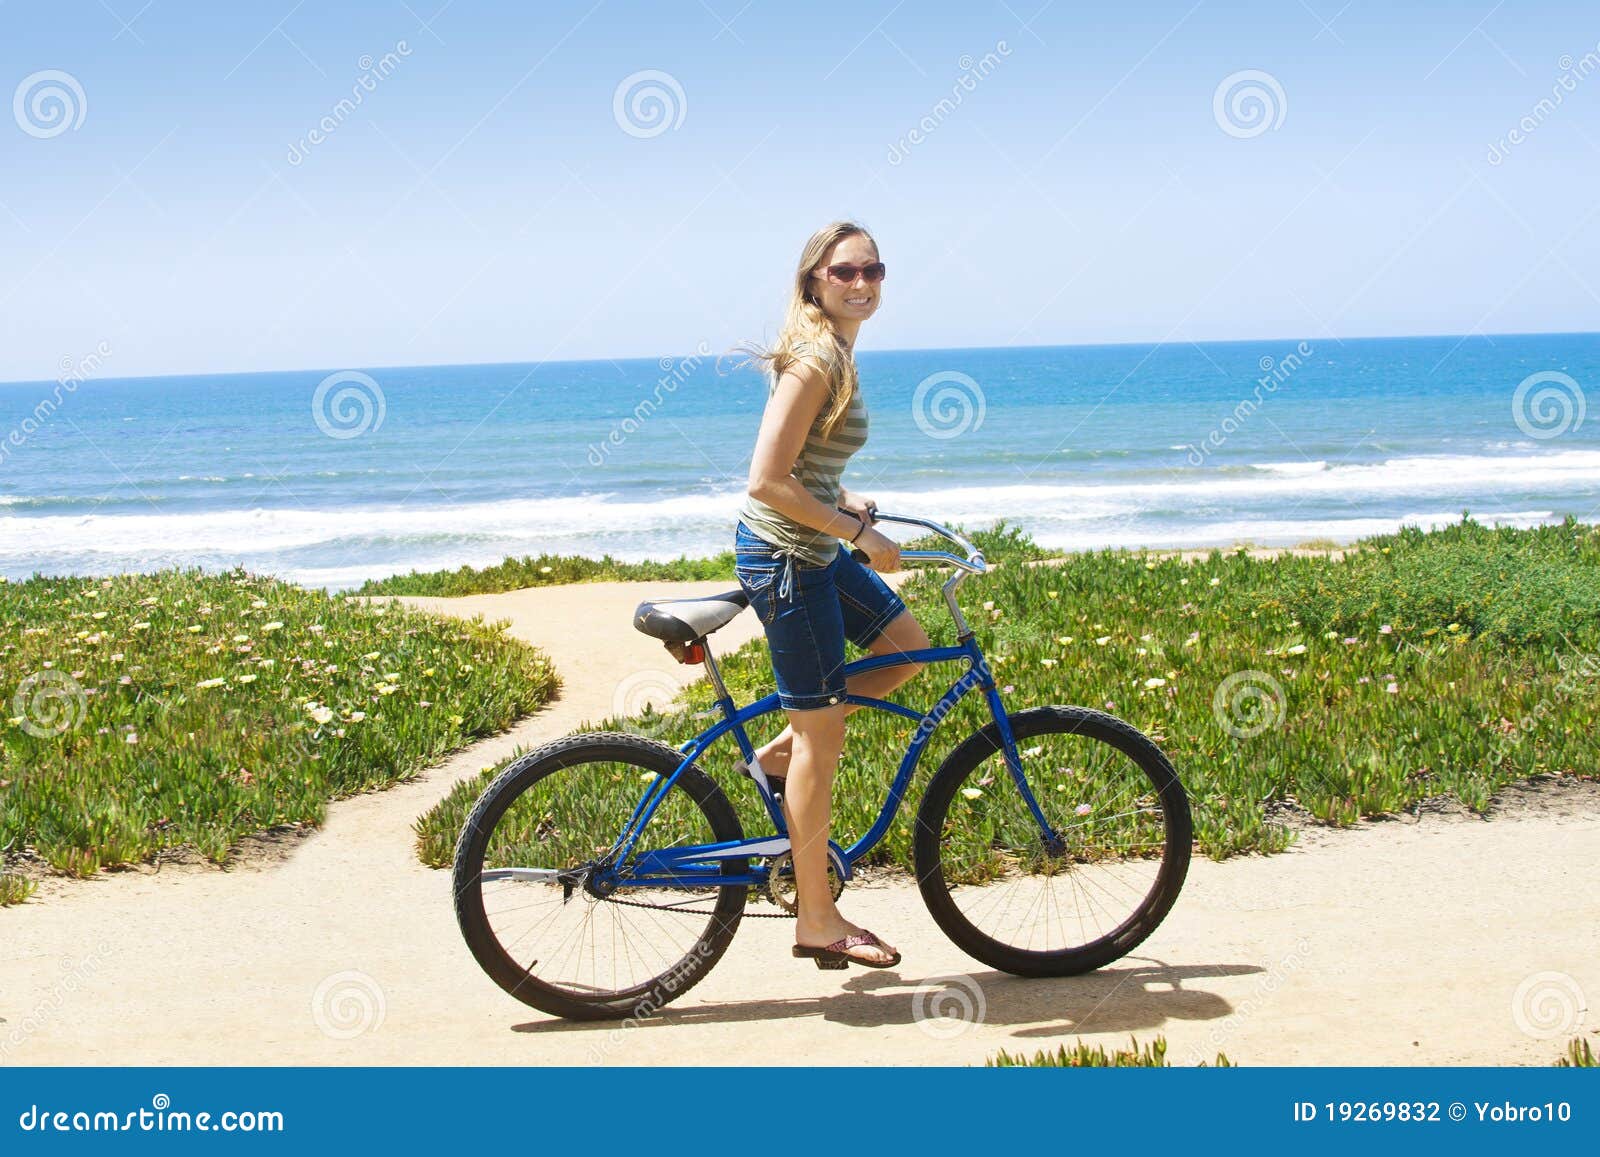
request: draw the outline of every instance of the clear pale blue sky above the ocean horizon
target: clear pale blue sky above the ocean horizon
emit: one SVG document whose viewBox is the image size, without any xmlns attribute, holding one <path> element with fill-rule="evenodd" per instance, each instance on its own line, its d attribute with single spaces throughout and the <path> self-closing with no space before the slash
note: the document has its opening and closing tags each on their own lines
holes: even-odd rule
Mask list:
<svg viewBox="0 0 1600 1157">
<path fill-rule="evenodd" d="M 834 216 L 864 346 L 1597 328 L 1592 5 L 739 3 L 0 3 L 0 379 L 723 349 Z"/>
</svg>

